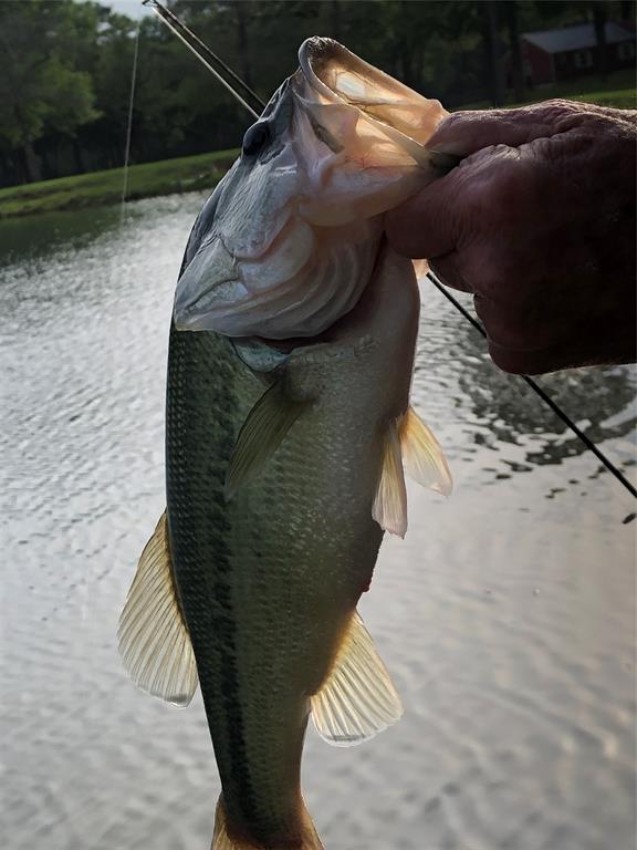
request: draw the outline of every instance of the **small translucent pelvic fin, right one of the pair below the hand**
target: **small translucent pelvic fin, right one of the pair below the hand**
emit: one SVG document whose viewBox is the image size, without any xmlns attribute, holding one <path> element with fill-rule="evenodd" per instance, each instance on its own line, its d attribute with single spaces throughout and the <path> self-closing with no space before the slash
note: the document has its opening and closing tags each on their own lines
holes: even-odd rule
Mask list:
<svg viewBox="0 0 637 850">
<path fill-rule="evenodd" d="M 399 421 L 398 432 L 403 463 L 409 477 L 424 487 L 449 496 L 451 473 L 440 444 L 413 407 L 408 407 Z"/>
</svg>

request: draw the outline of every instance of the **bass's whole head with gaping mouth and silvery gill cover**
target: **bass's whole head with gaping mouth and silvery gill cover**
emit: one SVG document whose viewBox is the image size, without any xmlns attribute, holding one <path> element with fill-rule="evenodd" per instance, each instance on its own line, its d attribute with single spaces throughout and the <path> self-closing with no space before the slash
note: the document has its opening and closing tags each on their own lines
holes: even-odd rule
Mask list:
<svg viewBox="0 0 637 850">
<path fill-rule="evenodd" d="M 196 227 L 179 330 L 321 334 L 363 293 L 382 214 L 438 176 L 424 146 L 447 114 L 438 101 L 331 39 L 306 40 L 299 60 Z"/>
</svg>

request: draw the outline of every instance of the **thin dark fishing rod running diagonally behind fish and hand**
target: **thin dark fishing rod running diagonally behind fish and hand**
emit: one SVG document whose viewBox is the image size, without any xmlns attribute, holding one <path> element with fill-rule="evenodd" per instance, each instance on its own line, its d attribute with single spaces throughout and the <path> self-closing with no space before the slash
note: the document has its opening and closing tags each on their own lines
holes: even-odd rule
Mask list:
<svg viewBox="0 0 637 850">
<path fill-rule="evenodd" d="M 239 101 L 239 103 L 250 112 L 254 118 L 259 118 L 261 112 L 265 107 L 264 101 L 262 101 L 258 94 L 255 94 L 239 76 L 237 76 L 231 68 L 229 68 L 221 59 L 219 59 L 219 56 L 213 53 L 207 44 L 198 39 L 197 35 L 195 35 L 195 33 L 191 32 L 191 30 L 189 30 L 185 23 L 182 23 L 175 14 L 173 14 L 169 9 L 166 9 L 166 7 L 161 6 L 158 0 L 143 0 L 143 6 L 150 7 L 155 14 L 157 14 L 158 18 L 160 18 L 161 21 L 186 44 L 188 50 L 194 53 L 197 59 L 203 65 L 206 65 L 209 71 L 212 72 L 212 74 L 215 74 L 215 76 L 224 86 L 224 89 L 227 89 L 237 99 L 237 101 Z M 453 165 L 456 164 L 457 163 L 455 162 Z M 480 333 L 484 339 L 488 339 L 487 331 L 480 324 L 480 322 L 474 319 L 464 307 L 462 307 L 462 304 L 447 290 L 446 287 L 442 286 L 439 280 L 437 280 L 437 278 L 431 272 L 427 273 L 427 278 L 431 281 L 431 283 L 434 283 L 436 289 L 441 292 L 460 313 L 462 313 L 462 315 L 473 325 L 478 333 Z M 619 484 L 622 484 L 634 498 L 637 498 L 637 488 L 630 484 L 622 470 L 618 469 L 615 464 L 606 457 L 606 455 L 593 443 L 593 440 L 587 437 L 586 434 L 584 434 L 582 428 L 579 428 L 566 413 L 564 413 L 557 403 L 551 398 L 551 396 L 544 390 L 542 390 L 537 382 L 529 375 L 519 375 L 519 377 L 521 377 L 528 384 L 528 386 L 530 386 L 531 390 L 533 390 L 533 392 L 536 393 L 540 398 L 542 398 L 542 401 L 553 411 L 553 413 L 562 419 L 562 422 L 575 434 L 576 437 L 582 440 L 586 448 L 588 448 L 606 467 L 606 469 L 608 469 L 608 471 L 615 476 Z M 629 521 L 635 515 L 628 515 L 624 521 Z"/>
</svg>

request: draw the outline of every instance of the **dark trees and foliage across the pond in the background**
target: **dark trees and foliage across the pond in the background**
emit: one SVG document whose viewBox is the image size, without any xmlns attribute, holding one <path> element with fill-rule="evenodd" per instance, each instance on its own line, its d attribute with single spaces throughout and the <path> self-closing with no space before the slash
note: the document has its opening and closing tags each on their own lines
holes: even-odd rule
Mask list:
<svg viewBox="0 0 637 850">
<path fill-rule="evenodd" d="M 634 14 L 634 0 L 165 0 L 267 100 L 301 41 L 332 35 L 450 107 L 504 102 L 516 32 Z M 231 96 L 154 15 L 103 3 L 0 2 L 0 185 L 121 165 L 138 34 L 133 162 L 237 145 Z M 595 14 L 597 15 L 595 18 Z M 524 99 L 520 73 L 515 96 Z"/>
</svg>

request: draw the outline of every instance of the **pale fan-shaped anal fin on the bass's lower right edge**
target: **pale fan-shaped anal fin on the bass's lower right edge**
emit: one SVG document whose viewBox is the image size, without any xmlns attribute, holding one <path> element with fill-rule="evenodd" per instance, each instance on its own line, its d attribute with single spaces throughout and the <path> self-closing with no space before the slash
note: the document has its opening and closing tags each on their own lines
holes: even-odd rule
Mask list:
<svg viewBox="0 0 637 850">
<path fill-rule="evenodd" d="M 361 744 L 401 716 L 400 697 L 358 612 L 311 706 L 318 735 L 340 747 Z"/>
</svg>

